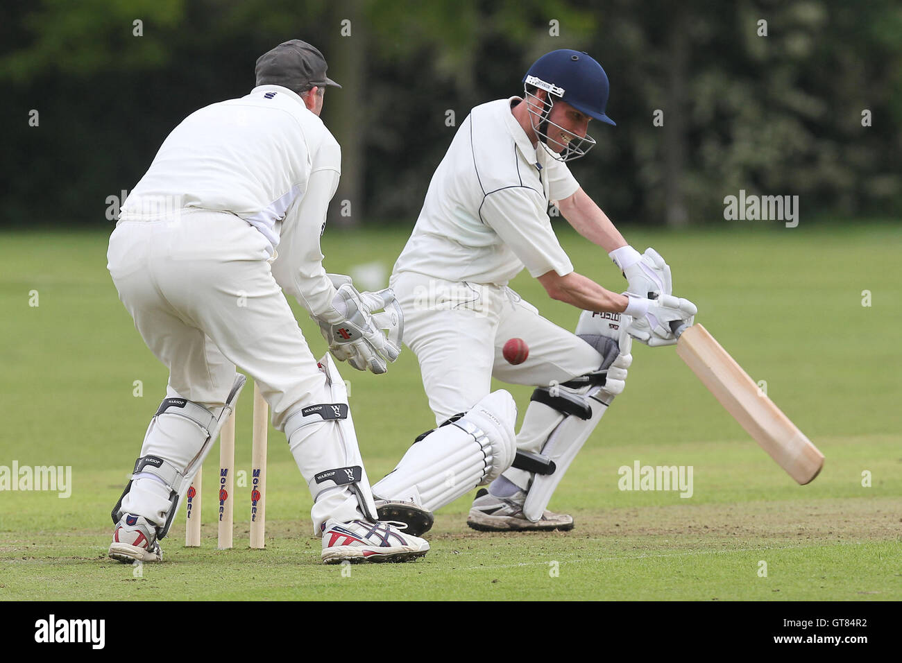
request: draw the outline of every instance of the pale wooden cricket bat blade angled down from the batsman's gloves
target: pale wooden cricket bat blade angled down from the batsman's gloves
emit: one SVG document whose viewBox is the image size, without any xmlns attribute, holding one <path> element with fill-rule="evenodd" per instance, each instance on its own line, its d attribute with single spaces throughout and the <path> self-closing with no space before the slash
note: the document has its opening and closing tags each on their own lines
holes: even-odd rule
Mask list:
<svg viewBox="0 0 902 663">
<path fill-rule="evenodd" d="M 671 325 L 676 327 L 674 334 L 678 338 L 676 354 L 733 419 L 796 482 L 805 485 L 814 481 L 824 466 L 824 454 L 759 389 L 707 329 L 701 325 Z"/>
</svg>

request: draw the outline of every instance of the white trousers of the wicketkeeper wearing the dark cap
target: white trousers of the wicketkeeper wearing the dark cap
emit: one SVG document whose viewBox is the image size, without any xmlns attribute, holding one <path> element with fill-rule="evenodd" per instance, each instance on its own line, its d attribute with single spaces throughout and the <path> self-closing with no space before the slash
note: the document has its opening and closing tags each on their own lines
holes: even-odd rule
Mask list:
<svg viewBox="0 0 902 663">
<path fill-rule="evenodd" d="M 110 236 L 107 268 L 134 327 L 170 370 L 167 397 L 221 408 L 238 365 L 260 386 L 272 425 L 283 430 L 295 412 L 330 399 L 325 375 L 272 277 L 267 245 L 238 216 L 182 209 L 164 219 L 121 220 Z M 318 472 L 347 465 L 335 426 L 309 424 L 290 440 L 308 485 Z M 153 431 L 141 455 L 162 456 L 184 471 L 198 453 L 197 440 L 172 428 Z M 137 483 L 124 509 L 159 521 L 166 493 L 145 481 L 154 490 L 139 495 Z M 346 522 L 362 513 L 348 487 L 338 486 L 321 495 L 311 516 L 316 529 L 327 518 Z"/>
</svg>

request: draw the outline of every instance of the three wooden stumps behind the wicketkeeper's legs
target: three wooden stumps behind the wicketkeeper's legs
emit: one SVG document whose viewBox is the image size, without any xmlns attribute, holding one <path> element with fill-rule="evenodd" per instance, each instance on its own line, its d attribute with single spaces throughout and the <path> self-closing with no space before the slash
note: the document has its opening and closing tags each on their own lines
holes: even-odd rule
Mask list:
<svg viewBox="0 0 902 663">
<path fill-rule="evenodd" d="M 269 406 L 260 388 L 253 384 L 253 429 L 251 432 L 251 548 L 266 547 L 266 446 Z M 185 546 L 200 546 L 201 485 L 203 467 L 198 468 L 186 500 Z M 219 523 L 216 548 L 232 548 L 235 486 L 235 413 L 219 434 Z"/>
</svg>

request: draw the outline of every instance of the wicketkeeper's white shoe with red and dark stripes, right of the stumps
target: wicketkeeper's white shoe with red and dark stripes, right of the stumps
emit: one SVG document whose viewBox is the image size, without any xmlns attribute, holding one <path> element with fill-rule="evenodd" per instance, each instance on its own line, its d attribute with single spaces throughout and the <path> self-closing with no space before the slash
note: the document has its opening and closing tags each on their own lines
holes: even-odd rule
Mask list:
<svg viewBox="0 0 902 663">
<path fill-rule="evenodd" d="M 403 523 L 397 523 L 403 525 Z M 338 562 L 407 562 L 428 553 L 424 539 L 411 536 L 394 523 L 378 520 L 338 522 L 330 518 L 322 525 L 323 564 Z"/>
</svg>

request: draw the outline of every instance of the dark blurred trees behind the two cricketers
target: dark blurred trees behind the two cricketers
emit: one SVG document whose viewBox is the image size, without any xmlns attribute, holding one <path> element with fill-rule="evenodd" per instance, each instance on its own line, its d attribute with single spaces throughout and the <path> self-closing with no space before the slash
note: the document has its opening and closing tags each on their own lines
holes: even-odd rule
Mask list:
<svg viewBox="0 0 902 663">
<path fill-rule="evenodd" d="M 344 86 L 323 113 L 344 153 L 333 208 L 352 210 L 335 223 L 412 225 L 469 109 L 521 95 L 529 64 L 557 48 L 589 52 L 611 79 L 617 126 L 591 124 L 599 144 L 572 170 L 615 221 L 723 220 L 739 189 L 798 195 L 806 222 L 902 212 L 902 5 L 598 5 L 5 0 L 2 223 L 110 225 L 107 198 L 170 130 L 246 94 L 257 57 L 293 38 Z"/>
</svg>

